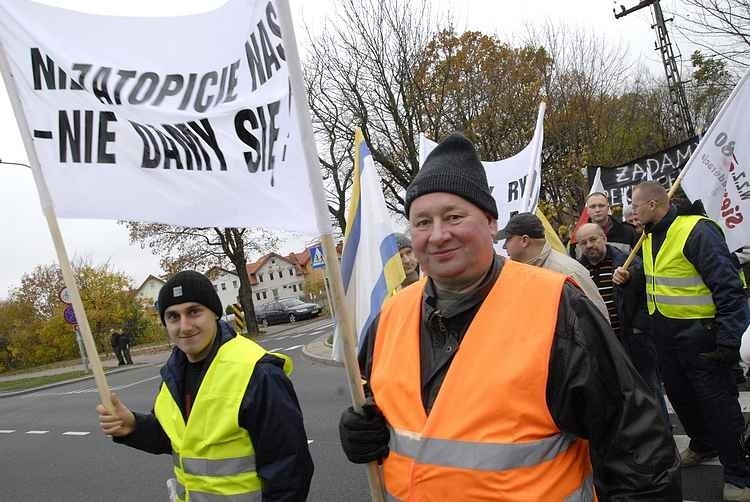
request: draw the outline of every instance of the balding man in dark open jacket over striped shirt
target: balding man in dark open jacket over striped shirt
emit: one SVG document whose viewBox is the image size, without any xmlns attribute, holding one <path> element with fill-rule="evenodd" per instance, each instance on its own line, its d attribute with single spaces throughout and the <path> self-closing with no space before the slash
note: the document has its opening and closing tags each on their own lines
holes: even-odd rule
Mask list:
<svg viewBox="0 0 750 502">
<path fill-rule="evenodd" d="M 654 393 L 665 422 L 669 423 L 656 345 L 646 310 L 646 278 L 641 259 L 636 256 L 628 270 L 621 269 L 628 255 L 607 244 L 604 230 L 596 223 L 581 225 L 576 240 L 583 250 L 579 261 L 588 269 L 591 279 L 599 288 L 609 311 L 612 329 L 622 341 L 638 373 Z"/>
</svg>

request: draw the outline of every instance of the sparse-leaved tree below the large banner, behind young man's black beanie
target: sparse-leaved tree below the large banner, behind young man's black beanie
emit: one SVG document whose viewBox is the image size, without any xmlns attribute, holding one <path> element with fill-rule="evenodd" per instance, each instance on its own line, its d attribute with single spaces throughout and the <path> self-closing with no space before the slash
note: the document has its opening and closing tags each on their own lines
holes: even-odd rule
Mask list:
<svg viewBox="0 0 750 502">
<path fill-rule="evenodd" d="M 213 266 L 233 269 L 240 281 L 240 305 L 249 335 L 258 334 L 253 292 L 247 274 L 247 257 L 276 247 L 278 238 L 263 230 L 246 228 L 188 228 L 160 223 L 124 223 L 131 244 L 161 256 L 161 267 L 169 275 L 181 270 Z"/>
</svg>

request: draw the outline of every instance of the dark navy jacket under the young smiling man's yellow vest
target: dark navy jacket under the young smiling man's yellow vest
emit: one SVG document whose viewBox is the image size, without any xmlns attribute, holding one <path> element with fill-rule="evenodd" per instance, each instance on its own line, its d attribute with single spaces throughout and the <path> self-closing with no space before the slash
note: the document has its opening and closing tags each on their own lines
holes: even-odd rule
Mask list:
<svg viewBox="0 0 750 502">
<path fill-rule="evenodd" d="M 211 353 L 205 360 L 201 380 L 216 356 L 219 347 L 236 333 L 224 321 L 217 321 L 219 332 Z M 185 415 L 184 375 L 187 358 L 178 348 L 172 349 L 161 376 L 175 402 Z M 200 388 L 200 384 L 199 384 Z M 172 453 L 172 445 L 153 410 L 135 413 L 133 433 L 113 438 L 149 453 Z M 263 483 L 263 502 L 293 502 L 307 498 L 313 474 L 313 462 L 307 446 L 302 411 L 292 382 L 278 357 L 265 355 L 245 390 L 238 416 L 240 427 L 250 434 L 255 449 L 258 475 Z"/>
</svg>

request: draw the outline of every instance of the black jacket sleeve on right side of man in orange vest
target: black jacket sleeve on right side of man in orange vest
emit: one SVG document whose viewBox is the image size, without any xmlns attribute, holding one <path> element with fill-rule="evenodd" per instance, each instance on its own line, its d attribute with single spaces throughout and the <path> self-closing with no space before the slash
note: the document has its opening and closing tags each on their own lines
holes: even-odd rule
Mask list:
<svg viewBox="0 0 750 502">
<path fill-rule="evenodd" d="M 589 441 L 599 500 L 682 500 L 677 450 L 655 397 L 612 328 L 570 285 L 558 310 L 547 403 L 561 431 Z"/>
</svg>

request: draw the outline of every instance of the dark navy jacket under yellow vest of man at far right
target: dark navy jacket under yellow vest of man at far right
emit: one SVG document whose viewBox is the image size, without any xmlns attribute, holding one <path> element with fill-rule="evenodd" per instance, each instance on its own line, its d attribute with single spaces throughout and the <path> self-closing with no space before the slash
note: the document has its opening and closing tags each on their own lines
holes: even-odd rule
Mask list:
<svg viewBox="0 0 750 502">
<path fill-rule="evenodd" d="M 672 207 L 658 223 L 646 226 L 645 231 L 652 234 L 653 256 L 661 249 L 667 230 L 677 216 L 705 216 L 700 207 L 695 204 L 684 209 Z M 700 221 L 690 232 L 682 252 L 711 290 L 716 316 L 713 322 L 707 323 L 696 319 L 669 319 L 657 311 L 652 316 L 654 332 L 676 336 L 688 330 L 708 329 L 715 333 L 717 345 L 739 347 L 742 333 L 750 323 L 750 307 L 740 282 L 739 269 L 729 253 L 724 234 L 713 221 Z"/>
</svg>

